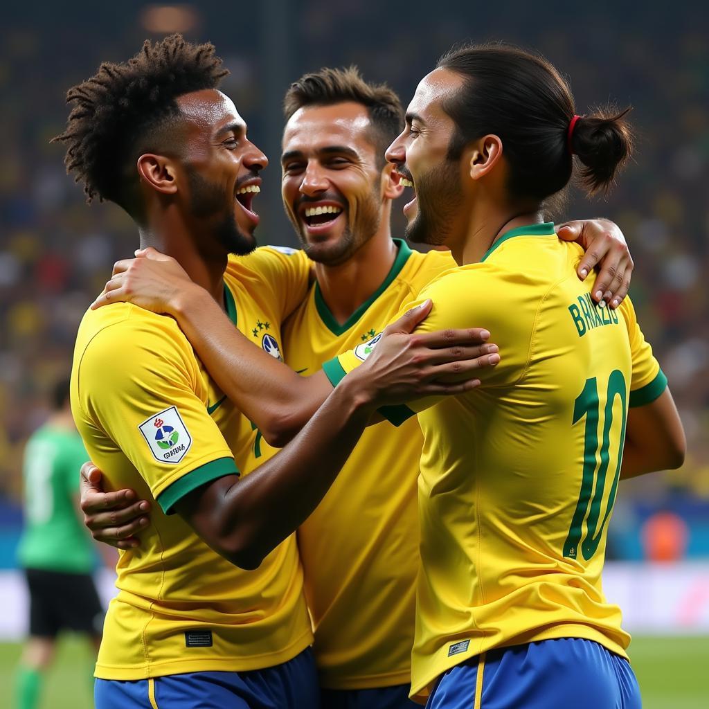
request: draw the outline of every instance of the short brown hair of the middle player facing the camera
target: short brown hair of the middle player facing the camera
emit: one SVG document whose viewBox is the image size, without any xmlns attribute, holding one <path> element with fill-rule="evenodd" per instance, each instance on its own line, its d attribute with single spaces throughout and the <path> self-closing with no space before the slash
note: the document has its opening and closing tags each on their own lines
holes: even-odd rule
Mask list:
<svg viewBox="0 0 709 709">
<path fill-rule="evenodd" d="M 386 84 L 370 84 L 362 79 L 357 67 L 330 69 L 304 74 L 291 84 L 283 101 L 286 121 L 305 106 L 333 106 L 354 101 L 366 106 L 374 128 L 377 160 L 383 167 L 384 151 L 403 128 L 403 108 L 394 91 Z"/>
</svg>

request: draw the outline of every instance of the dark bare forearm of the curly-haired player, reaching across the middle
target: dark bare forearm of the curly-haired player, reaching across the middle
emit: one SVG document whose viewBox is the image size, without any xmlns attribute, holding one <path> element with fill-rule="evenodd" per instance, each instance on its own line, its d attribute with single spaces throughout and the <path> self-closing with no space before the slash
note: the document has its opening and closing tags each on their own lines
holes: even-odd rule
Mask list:
<svg viewBox="0 0 709 709">
<path fill-rule="evenodd" d="M 256 568 L 318 506 L 367 426 L 372 407 L 342 381 L 303 430 L 225 492 L 219 517 L 237 563 Z"/>
</svg>

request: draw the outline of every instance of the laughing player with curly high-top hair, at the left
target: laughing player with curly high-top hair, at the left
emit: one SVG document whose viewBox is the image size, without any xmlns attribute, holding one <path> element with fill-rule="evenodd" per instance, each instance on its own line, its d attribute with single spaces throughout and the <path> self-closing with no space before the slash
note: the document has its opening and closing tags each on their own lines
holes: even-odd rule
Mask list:
<svg viewBox="0 0 709 709">
<path fill-rule="evenodd" d="M 179 35 L 146 42 L 132 60 L 101 65 L 69 91 L 75 105 L 57 140 L 67 143 L 67 168 L 89 201 L 123 207 L 141 246 L 177 259 L 191 279 L 186 287 L 211 294 L 247 337 L 267 328 L 273 352 L 307 279 L 275 289 L 288 257 L 274 250 L 230 257 L 255 247 L 252 199 L 267 159 L 216 88 L 224 74 L 212 45 Z M 109 489 L 157 502 L 140 549 L 118 562 L 118 596 L 96 665 L 98 709 L 318 705 L 291 532 L 379 406 L 476 385 L 437 380 L 489 362 L 479 357 L 479 331 L 458 333 L 467 347 L 454 354 L 435 349 L 450 345 L 440 333 L 418 342 L 406 334 L 429 311 L 430 304 L 401 318 L 361 374 L 336 390 L 322 373 L 307 380 L 292 373 L 304 422 L 325 403 L 253 471 L 242 465 L 255 443 L 249 418 L 260 426 L 269 406 L 226 400 L 172 318 L 129 303 L 86 313 L 72 370 L 79 432 Z M 245 389 L 253 389 L 250 372 L 285 367 L 245 349 Z M 457 362 L 460 351 L 465 359 Z M 262 384 L 262 401 L 272 401 Z"/>
</svg>

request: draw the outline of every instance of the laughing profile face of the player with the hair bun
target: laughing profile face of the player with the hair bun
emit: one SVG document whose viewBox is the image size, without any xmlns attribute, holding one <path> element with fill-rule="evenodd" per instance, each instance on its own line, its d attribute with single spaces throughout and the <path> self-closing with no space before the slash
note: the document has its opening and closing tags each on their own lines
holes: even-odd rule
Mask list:
<svg viewBox="0 0 709 709">
<path fill-rule="evenodd" d="M 450 247 L 464 227 L 464 164 L 448 156 L 455 126 L 443 110 L 447 96 L 461 84 L 444 69 L 424 77 L 406 111 L 406 128 L 386 151 L 401 184 L 413 188 L 413 199 L 403 208 L 412 242 Z"/>
</svg>

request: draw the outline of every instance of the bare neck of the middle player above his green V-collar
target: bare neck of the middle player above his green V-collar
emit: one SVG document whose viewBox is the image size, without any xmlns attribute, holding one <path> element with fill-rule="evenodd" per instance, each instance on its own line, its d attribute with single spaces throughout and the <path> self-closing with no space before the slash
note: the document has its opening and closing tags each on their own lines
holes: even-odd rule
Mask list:
<svg viewBox="0 0 709 709">
<path fill-rule="evenodd" d="M 396 253 L 387 221 L 386 229 L 380 229 L 345 263 L 315 264 L 320 293 L 340 325 L 381 286 L 391 271 Z"/>
</svg>

